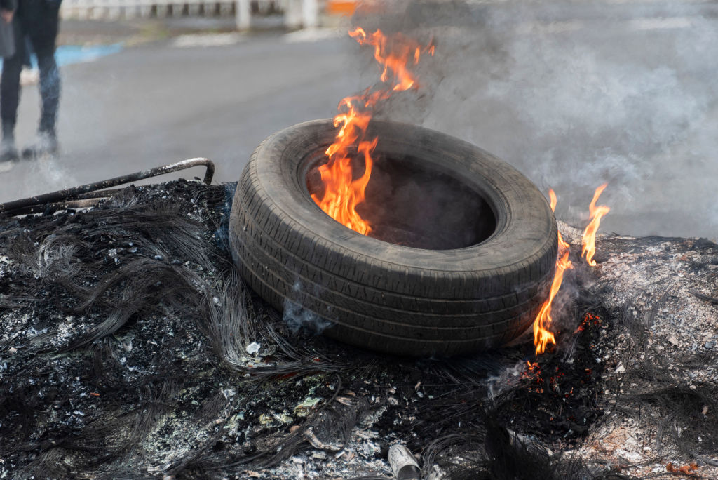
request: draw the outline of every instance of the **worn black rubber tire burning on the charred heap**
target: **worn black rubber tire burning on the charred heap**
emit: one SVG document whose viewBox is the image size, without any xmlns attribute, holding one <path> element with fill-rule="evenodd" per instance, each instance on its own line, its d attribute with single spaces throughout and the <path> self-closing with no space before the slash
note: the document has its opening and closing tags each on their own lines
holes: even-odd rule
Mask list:
<svg viewBox="0 0 718 480">
<path fill-rule="evenodd" d="M 526 331 L 557 251 L 536 187 L 472 144 L 372 121 L 377 159 L 357 207 L 373 226 L 364 236 L 310 197 L 334 134 L 330 120 L 309 121 L 252 154 L 230 219 L 246 282 L 279 310 L 330 320 L 328 336 L 391 354 L 465 354 Z"/>
</svg>

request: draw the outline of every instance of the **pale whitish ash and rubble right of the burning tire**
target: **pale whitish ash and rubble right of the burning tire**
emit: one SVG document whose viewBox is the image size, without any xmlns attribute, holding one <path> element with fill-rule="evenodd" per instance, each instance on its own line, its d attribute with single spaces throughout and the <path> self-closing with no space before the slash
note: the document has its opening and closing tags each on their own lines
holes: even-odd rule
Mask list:
<svg viewBox="0 0 718 480">
<path fill-rule="evenodd" d="M 580 234 L 563 223 L 559 229 L 580 248 Z M 587 461 L 602 459 L 624 474 L 644 476 L 665 472 L 668 463 L 678 468 L 696 462 L 686 458 L 676 443 L 661 432 L 661 409 L 653 402 L 633 403 L 615 409 L 615 402 L 630 394 L 656 389 L 642 369 L 655 364 L 676 385 L 696 390 L 699 385 L 718 382 L 717 349 L 718 305 L 701 300 L 689 292 L 718 294 L 718 249 L 705 239 L 636 239 L 627 236 L 601 236 L 597 251 L 604 257 L 595 267 L 596 295 L 605 308 L 623 310 L 627 329 L 607 338 L 609 353 L 604 359 L 612 368 L 605 370 L 602 382 L 607 411 L 605 422 L 592 429 L 578 453 Z M 600 287 L 610 287 L 598 293 Z M 606 293 L 608 292 L 608 293 Z M 630 326 L 643 328 L 645 342 L 630 332 Z M 702 415 L 708 413 L 707 405 Z M 694 423 L 677 419 L 679 435 L 690 435 Z M 698 442 L 701 442 L 699 437 Z M 706 456 L 709 461 L 718 457 Z M 694 472 L 703 478 L 718 478 L 718 467 L 698 461 Z"/>
</svg>

